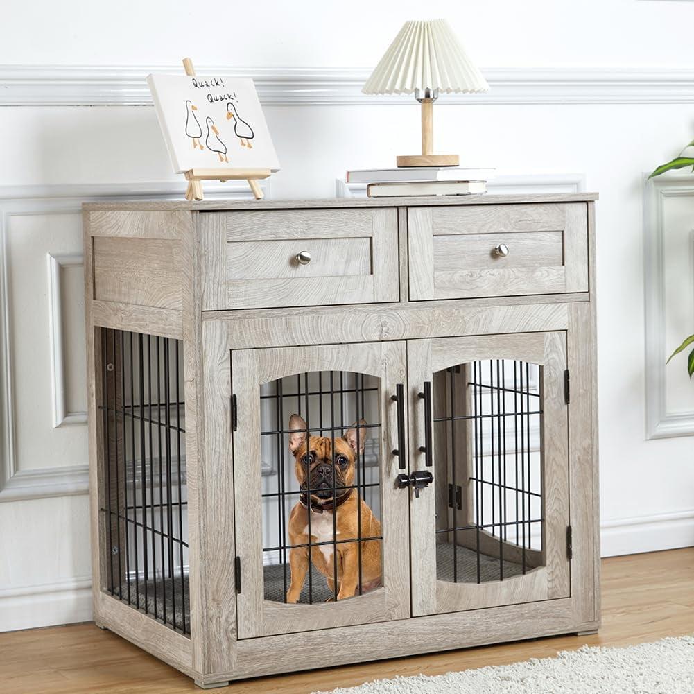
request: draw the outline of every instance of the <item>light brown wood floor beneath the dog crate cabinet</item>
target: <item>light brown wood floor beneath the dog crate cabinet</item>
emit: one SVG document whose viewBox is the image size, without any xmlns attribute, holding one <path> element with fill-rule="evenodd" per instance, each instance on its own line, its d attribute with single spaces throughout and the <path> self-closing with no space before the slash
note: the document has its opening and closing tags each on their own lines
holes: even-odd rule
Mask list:
<svg viewBox="0 0 694 694">
<path fill-rule="evenodd" d="M 395 675 L 551 657 L 584 644 L 627 645 L 694 632 L 694 548 L 605 559 L 602 629 L 595 636 L 539 641 L 398 658 L 355 666 L 265 677 L 214 691 L 294 694 L 354 686 Z M 348 648 L 348 646 L 346 646 Z M 92 623 L 0 634 L 2 694 L 175 694 L 201 691 L 173 668 Z"/>
</svg>

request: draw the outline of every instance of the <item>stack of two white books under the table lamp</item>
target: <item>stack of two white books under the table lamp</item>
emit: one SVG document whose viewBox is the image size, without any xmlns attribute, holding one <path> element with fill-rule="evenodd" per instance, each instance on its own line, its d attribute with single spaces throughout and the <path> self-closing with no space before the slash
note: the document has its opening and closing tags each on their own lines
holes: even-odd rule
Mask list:
<svg viewBox="0 0 694 694">
<path fill-rule="evenodd" d="M 403 169 L 355 169 L 347 171 L 347 183 L 366 183 L 370 198 L 407 195 L 479 195 L 494 169 L 462 167 L 412 167 Z"/>
</svg>

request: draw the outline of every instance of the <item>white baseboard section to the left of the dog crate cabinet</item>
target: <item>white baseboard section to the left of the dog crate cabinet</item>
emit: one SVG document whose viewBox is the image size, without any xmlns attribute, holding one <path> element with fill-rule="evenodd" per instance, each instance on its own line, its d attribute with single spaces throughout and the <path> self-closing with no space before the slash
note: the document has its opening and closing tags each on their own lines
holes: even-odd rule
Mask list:
<svg viewBox="0 0 694 694">
<path fill-rule="evenodd" d="M 91 619 L 91 577 L 0 589 L 0 632 L 87 622 Z"/>
</svg>

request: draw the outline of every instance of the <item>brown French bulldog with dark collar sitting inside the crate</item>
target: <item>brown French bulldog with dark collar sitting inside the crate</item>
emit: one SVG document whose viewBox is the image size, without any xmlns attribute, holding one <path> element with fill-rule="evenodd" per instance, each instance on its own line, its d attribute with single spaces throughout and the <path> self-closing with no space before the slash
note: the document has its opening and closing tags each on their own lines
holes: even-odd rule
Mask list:
<svg viewBox="0 0 694 694">
<path fill-rule="evenodd" d="M 359 421 L 365 425 L 364 420 Z M 355 427 L 356 424 L 353 425 Z M 303 431 L 301 431 L 303 430 Z M 340 489 L 354 484 L 357 456 L 357 430 L 348 429 L 339 439 L 312 436 L 306 443 L 306 423 L 298 414 L 289 418 L 289 450 L 296 459 L 296 478 L 302 493 L 289 515 L 289 541 L 292 545 L 307 545 L 308 516 L 311 514 L 311 541 L 332 542 L 333 514 L 337 540 L 357 540 L 361 516 L 362 537 L 378 537 L 381 524 L 356 489 Z M 366 430 L 359 431 L 359 455 L 364 453 Z M 335 498 L 333 498 L 335 486 Z M 310 495 L 307 493 L 310 490 Z M 361 510 L 357 512 L 357 502 Z M 310 510 L 309 510 L 310 507 Z M 381 582 L 381 542 L 362 541 L 362 592 L 373 590 Z M 325 544 L 311 548 L 313 565 L 325 576 L 328 588 L 335 593 L 335 547 Z M 289 551 L 291 584 L 287 602 L 296 602 L 308 570 L 308 547 Z M 337 544 L 337 599 L 351 598 L 359 589 L 359 542 Z"/>
</svg>

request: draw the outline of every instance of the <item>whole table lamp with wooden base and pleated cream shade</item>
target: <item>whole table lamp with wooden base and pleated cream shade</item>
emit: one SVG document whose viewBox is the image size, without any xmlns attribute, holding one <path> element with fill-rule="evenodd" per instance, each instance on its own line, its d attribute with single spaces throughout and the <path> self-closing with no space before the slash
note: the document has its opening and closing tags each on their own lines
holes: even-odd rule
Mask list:
<svg viewBox="0 0 694 694">
<path fill-rule="evenodd" d="M 398 167 L 457 166 L 457 154 L 434 154 L 433 105 L 440 93 L 489 90 L 446 19 L 405 22 L 362 88 L 364 94 L 414 94 L 422 109 L 422 153 Z"/>
</svg>

